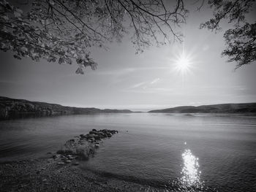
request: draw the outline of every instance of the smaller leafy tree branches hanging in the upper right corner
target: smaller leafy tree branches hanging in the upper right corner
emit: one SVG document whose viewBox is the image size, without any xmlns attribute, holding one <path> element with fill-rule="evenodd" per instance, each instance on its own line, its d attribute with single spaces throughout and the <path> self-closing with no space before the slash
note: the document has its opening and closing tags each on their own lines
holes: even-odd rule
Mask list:
<svg viewBox="0 0 256 192">
<path fill-rule="evenodd" d="M 246 21 L 246 14 L 251 11 L 254 3 L 255 0 L 210 0 L 208 4 L 214 9 L 214 18 L 200 25 L 200 28 L 218 31 L 221 29 L 221 20 L 233 23 L 234 28 L 225 31 L 227 47 L 222 55 L 228 56 L 230 62 L 236 61 L 236 69 L 256 60 L 256 23 Z"/>
</svg>

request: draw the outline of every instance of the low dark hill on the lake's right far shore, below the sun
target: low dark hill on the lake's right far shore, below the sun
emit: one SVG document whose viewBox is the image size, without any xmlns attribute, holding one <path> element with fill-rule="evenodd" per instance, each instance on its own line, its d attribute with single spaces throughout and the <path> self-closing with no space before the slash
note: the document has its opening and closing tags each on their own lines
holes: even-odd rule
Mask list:
<svg viewBox="0 0 256 192">
<path fill-rule="evenodd" d="M 227 112 L 227 113 L 241 113 L 241 112 L 256 112 L 256 103 L 244 104 L 211 104 L 195 106 L 182 106 L 167 108 L 164 110 L 151 110 L 149 112 L 165 112 L 165 113 L 213 113 L 213 112 Z"/>
</svg>

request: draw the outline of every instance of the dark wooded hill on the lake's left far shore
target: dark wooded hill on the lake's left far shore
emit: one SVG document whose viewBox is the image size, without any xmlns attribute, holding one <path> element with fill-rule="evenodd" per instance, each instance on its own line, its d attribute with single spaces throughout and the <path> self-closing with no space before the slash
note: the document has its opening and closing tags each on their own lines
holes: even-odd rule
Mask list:
<svg viewBox="0 0 256 192">
<path fill-rule="evenodd" d="M 132 112 L 130 110 L 99 110 L 97 108 L 66 107 L 60 104 L 11 99 L 0 96 L 0 118 L 18 114 L 61 115 L 87 114 L 96 112 Z"/>
</svg>

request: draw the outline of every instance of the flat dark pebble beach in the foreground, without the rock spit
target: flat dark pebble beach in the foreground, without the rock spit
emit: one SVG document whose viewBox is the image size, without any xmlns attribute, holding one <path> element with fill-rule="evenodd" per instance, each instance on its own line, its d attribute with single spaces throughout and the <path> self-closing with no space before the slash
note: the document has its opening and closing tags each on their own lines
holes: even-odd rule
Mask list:
<svg viewBox="0 0 256 192">
<path fill-rule="evenodd" d="M 164 191 L 149 185 L 102 177 L 79 165 L 48 157 L 0 164 L 1 191 Z"/>
</svg>

